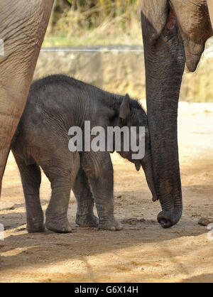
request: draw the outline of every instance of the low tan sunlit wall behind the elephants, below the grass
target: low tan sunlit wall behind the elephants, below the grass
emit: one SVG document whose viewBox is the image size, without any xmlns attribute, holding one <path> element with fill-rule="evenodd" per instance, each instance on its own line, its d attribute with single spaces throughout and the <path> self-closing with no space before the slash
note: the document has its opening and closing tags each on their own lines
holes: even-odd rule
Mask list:
<svg viewBox="0 0 213 297">
<path fill-rule="evenodd" d="M 110 48 L 111 49 L 111 48 Z M 145 69 L 141 48 L 119 48 L 122 51 L 42 51 L 34 79 L 62 73 L 101 87 L 109 92 L 129 95 L 138 99 L 146 97 Z M 76 50 L 76 49 L 75 49 Z M 91 48 L 90 48 L 91 50 Z M 94 50 L 94 48 L 93 48 Z M 124 52 L 123 50 L 135 50 Z M 180 100 L 187 102 L 213 101 L 213 57 L 208 55 L 195 73 L 185 75 Z"/>
</svg>

